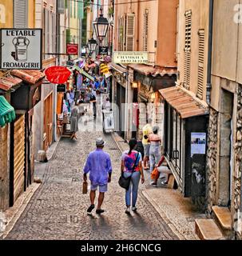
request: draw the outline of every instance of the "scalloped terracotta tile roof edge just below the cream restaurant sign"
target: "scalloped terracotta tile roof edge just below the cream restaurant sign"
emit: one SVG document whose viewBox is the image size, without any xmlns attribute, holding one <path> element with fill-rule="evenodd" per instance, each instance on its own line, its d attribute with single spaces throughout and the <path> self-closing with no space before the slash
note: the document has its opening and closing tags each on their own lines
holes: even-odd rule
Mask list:
<svg viewBox="0 0 242 256">
<path fill-rule="evenodd" d="M 129 67 L 146 76 L 152 75 L 153 77 L 157 77 L 157 75 L 161 75 L 161 77 L 164 77 L 165 75 L 169 75 L 171 77 L 177 75 L 177 68 L 149 66 L 145 64 L 129 64 Z"/>
</svg>

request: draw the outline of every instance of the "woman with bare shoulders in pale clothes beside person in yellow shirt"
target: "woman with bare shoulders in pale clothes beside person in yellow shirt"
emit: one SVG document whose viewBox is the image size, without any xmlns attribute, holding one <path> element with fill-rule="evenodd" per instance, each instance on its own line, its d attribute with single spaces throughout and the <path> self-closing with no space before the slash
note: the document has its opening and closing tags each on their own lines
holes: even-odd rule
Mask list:
<svg viewBox="0 0 242 256">
<path fill-rule="evenodd" d="M 161 159 L 161 137 L 158 135 L 158 126 L 153 127 L 153 134 L 149 134 L 149 166 L 150 166 L 150 174 L 153 172 L 155 166 Z M 151 185 L 157 186 L 157 182 L 151 182 Z"/>
</svg>

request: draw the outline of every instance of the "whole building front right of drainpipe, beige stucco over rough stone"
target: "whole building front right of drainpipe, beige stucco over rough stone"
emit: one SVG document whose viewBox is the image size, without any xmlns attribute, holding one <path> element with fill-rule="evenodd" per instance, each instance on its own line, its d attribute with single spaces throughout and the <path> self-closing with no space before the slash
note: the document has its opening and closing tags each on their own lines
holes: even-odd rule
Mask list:
<svg viewBox="0 0 242 256">
<path fill-rule="evenodd" d="M 237 3 L 236 0 L 213 2 L 207 210 L 208 214 L 214 214 L 216 207 L 226 212 L 230 216 L 232 237 L 241 238 L 242 24 L 234 19 Z M 227 22 L 220 26 L 224 18 Z"/>
</svg>

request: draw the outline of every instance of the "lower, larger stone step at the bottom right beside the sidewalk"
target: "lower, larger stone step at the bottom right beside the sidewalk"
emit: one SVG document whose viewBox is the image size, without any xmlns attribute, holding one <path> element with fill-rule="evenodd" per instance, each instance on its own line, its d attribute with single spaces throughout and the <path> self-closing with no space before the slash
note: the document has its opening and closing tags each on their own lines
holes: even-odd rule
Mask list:
<svg viewBox="0 0 242 256">
<path fill-rule="evenodd" d="M 213 219 L 196 219 L 195 230 L 201 240 L 224 240 L 220 228 Z"/>
</svg>

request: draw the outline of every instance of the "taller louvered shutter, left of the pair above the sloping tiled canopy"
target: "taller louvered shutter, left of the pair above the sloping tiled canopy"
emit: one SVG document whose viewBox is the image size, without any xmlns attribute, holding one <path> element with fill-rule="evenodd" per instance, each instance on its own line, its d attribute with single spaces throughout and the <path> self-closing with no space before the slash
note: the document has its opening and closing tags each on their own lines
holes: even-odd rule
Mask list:
<svg viewBox="0 0 242 256">
<path fill-rule="evenodd" d="M 192 39 L 192 11 L 188 10 L 185 16 L 185 43 L 184 43 L 184 88 L 190 88 L 191 76 L 191 39 Z"/>
</svg>

